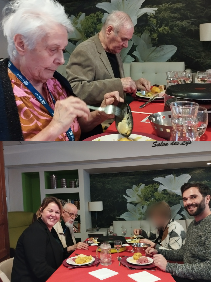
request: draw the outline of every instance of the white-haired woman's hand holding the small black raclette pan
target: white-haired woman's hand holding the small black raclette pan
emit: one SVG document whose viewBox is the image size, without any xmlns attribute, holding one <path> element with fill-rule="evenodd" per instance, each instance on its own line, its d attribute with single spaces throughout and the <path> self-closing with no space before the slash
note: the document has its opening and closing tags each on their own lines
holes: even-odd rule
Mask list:
<svg viewBox="0 0 211 282">
<path fill-rule="evenodd" d="M 104 95 L 104 100 L 102 101 L 100 107 L 106 107 L 107 105 L 118 105 L 119 102 L 124 102 L 124 99 L 122 99 L 119 96 L 118 91 L 113 91 L 110 93 L 106 93 Z M 104 120 L 109 119 L 109 118 L 114 118 L 114 115 L 108 115 L 104 112 L 99 112 L 100 115 L 104 118 Z"/>
</svg>

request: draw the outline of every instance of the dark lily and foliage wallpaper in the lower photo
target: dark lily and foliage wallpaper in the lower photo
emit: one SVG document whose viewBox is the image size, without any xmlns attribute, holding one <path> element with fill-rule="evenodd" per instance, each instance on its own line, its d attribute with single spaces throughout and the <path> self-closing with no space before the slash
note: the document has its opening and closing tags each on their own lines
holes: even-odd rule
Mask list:
<svg viewBox="0 0 211 282">
<path fill-rule="evenodd" d="M 113 220 L 144 220 L 147 206 L 166 201 L 174 219 L 192 218 L 184 210 L 180 187 L 186 182 L 203 182 L 211 187 L 211 168 L 186 168 L 90 175 L 91 201 L 102 201 L 98 226 Z M 95 226 L 95 213 L 92 214 Z"/>
</svg>

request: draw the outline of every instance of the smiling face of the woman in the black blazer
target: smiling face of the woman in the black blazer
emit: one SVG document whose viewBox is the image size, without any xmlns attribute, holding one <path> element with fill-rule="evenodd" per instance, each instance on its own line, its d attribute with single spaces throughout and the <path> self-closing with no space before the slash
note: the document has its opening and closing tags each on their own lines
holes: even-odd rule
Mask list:
<svg viewBox="0 0 211 282">
<path fill-rule="evenodd" d="M 57 204 L 50 203 L 48 206 L 41 210 L 41 219 L 47 225 L 48 229 L 51 228 L 56 224 L 60 219 L 60 210 Z"/>
</svg>

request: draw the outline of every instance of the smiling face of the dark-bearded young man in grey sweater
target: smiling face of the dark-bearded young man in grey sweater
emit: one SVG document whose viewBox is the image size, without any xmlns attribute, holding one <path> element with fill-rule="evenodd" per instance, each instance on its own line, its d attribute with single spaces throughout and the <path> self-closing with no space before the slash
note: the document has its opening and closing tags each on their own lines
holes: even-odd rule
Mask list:
<svg viewBox="0 0 211 282">
<path fill-rule="evenodd" d="M 191 216 L 197 216 L 205 210 L 206 197 L 203 197 L 196 187 L 191 187 L 183 193 L 185 210 Z"/>
</svg>

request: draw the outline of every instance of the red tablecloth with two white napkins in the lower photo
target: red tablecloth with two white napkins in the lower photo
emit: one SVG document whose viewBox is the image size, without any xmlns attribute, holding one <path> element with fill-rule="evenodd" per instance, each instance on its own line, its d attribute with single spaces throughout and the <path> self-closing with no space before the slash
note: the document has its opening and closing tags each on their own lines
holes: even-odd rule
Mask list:
<svg viewBox="0 0 211 282">
<path fill-rule="evenodd" d="M 84 255 L 93 255 L 94 256 L 96 255 L 96 248 L 97 246 L 89 246 L 89 250 L 87 251 L 77 250 L 76 253 L 77 254 L 82 253 Z M 129 250 L 131 249 L 132 249 L 131 246 L 127 247 L 127 250 L 125 250 L 124 252 L 121 252 L 120 255 L 131 256 L 132 253 L 129 252 Z M 100 253 L 98 254 L 100 255 Z M 71 255 L 71 257 L 73 256 L 75 256 L 75 252 Z M 80 269 L 77 269 L 77 268 L 69 269 L 61 265 L 53 273 L 53 275 L 51 275 L 51 277 L 47 280 L 47 282 L 73 281 L 73 280 L 77 282 L 84 282 L 84 281 L 85 282 L 90 282 L 90 281 L 99 282 L 100 280 L 98 278 L 88 274 L 88 272 L 98 270 L 104 267 L 109 268 L 119 273 L 118 275 L 107 278 L 104 281 L 106 282 L 116 282 L 116 281 L 132 282 L 134 280 L 129 278 L 127 275 L 143 271 L 143 270 L 129 270 L 128 268 L 126 268 L 123 265 L 118 266 L 119 262 L 115 259 L 117 254 L 112 254 L 111 256 L 112 256 L 112 264 L 109 266 L 102 266 L 100 264 L 98 267 L 90 266 L 90 267 L 80 268 Z M 166 281 L 175 282 L 175 280 L 172 278 L 172 276 L 169 273 L 163 272 L 159 269 L 157 269 L 156 271 L 149 271 L 149 273 L 154 274 L 155 276 L 161 278 L 163 282 L 166 282 Z"/>
</svg>

